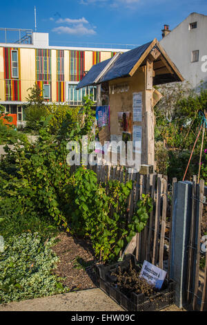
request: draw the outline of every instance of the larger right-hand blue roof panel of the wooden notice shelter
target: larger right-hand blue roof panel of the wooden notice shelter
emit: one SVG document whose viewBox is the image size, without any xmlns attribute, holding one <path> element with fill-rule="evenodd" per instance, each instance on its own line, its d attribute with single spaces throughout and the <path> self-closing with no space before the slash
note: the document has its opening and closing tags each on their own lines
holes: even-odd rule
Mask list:
<svg viewBox="0 0 207 325">
<path fill-rule="evenodd" d="M 141 45 L 138 48 L 133 48 L 126 53 L 121 54 L 109 70 L 101 77 L 99 82 L 106 82 L 115 78 L 124 77 L 130 73 L 133 66 L 140 59 L 141 55 L 147 50 L 152 41 Z"/>
</svg>

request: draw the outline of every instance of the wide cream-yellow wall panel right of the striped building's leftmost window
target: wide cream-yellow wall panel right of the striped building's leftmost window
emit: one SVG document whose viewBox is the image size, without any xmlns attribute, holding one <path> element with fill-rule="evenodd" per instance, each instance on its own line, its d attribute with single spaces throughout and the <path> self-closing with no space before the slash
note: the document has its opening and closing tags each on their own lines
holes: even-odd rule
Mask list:
<svg viewBox="0 0 207 325">
<path fill-rule="evenodd" d="M 35 84 L 35 50 L 34 48 L 20 49 L 20 66 L 21 66 L 21 100 L 26 101 L 28 89 Z"/>
</svg>

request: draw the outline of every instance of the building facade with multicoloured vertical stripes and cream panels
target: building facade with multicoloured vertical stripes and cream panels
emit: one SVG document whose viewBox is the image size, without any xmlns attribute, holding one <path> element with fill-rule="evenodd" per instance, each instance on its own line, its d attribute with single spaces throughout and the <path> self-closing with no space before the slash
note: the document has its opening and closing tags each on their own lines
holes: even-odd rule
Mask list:
<svg viewBox="0 0 207 325">
<path fill-rule="evenodd" d="M 39 85 L 46 102 L 81 104 L 87 93 L 96 100 L 96 89 L 76 86 L 92 65 L 115 55 L 115 49 L 69 48 L 30 44 L 0 44 L 0 104 L 9 113 L 17 113 L 17 121 L 24 120 L 23 106 L 28 89 Z M 126 50 L 121 50 L 122 52 Z"/>
</svg>

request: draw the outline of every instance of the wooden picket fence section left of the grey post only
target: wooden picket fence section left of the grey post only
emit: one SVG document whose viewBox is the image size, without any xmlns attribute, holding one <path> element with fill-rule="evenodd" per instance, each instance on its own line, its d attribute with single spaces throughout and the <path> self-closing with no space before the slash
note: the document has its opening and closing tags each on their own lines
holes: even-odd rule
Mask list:
<svg viewBox="0 0 207 325">
<path fill-rule="evenodd" d="M 98 182 L 107 182 L 108 180 L 119 180 L 126 183 L 132 180 L 132 189 L 128 196 L 128 221 L 137 208 L 137 201 L 142 194 L 149 194 L 153 202 L 153 210 L 150 213 L 148 223 L 143 232 L 137 233 L 130 243 L 129 248 L 120 252 L 133 252 L 141 263 L 146 259 L 151 263 L 165 268 L 169 274 L 168 259 L 170 258 L 170 222 L 167 223 L 167 213 L 170 216 L 170 205 L 168 199 L 167 176 L 161 174 L 141 175 L 133 172 L 133 169 L 126 167 L 109 166 L 88 166 L 93 169 L 98 178 Z M 176 179 L 174 180 L 176 181 Z M 170 218 L 169 218 L 170 219 Z M 134 241 L 134 243 L 133 243 Z"/>
</svg>

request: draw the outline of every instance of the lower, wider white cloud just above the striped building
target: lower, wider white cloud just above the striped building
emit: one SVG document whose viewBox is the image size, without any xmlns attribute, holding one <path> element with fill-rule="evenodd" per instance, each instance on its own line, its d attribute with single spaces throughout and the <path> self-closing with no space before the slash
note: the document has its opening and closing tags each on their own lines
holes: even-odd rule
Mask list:
<svg viewBox="0 0 207 325">
<path fill-rule="evenodd" d="M 78 24 L 72 27 L 59 26 L 52 29 L 52 32 L 58 34 L 69 34 L 69 35 L 95 35 L 96 32 L 92 28 L 87 28 L 83 24 Z"/>
</svg>

